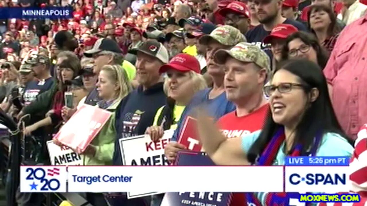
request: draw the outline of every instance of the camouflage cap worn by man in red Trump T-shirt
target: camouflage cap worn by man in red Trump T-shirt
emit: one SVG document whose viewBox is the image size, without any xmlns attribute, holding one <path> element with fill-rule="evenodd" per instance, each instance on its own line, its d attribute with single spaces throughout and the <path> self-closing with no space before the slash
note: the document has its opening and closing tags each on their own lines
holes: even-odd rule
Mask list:
<svg viewBox="0 0 367 206">
<path fill-rule="evenodd" d="M 261 68 L 265 68 L 266 72 L 270 72 L 269 56 L 256 45 L 242 42 L 236 44 L 230 50 L 219 49 L 214 54 L 214 59 L 219 64 L 224 64 L 228 56 L 241 62 L 253 62 Z"/>
</svg>

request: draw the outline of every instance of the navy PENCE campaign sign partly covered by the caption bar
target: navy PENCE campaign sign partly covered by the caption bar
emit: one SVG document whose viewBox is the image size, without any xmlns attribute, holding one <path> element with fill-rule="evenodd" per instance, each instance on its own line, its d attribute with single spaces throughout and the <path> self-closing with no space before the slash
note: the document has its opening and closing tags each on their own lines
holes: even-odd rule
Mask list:
<svg viewBox="0 0 367 206">
<path fill-rule="evenodd" d="M 175 165 L 203 166 L 215 165 L 202 152 L 179 151 Z M 232 199 L 230 192 L 167 192 L 160 206 L 228 206 Z"/>
</svg>

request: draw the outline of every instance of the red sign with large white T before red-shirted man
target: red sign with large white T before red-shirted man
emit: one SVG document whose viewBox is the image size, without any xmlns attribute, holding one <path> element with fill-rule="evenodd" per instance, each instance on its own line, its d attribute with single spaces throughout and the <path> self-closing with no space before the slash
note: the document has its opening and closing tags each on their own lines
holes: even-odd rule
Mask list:
<svg viewBox="0 0 367 206">
<path fill-rule="evenodd" d="M 199 135 L 197 134 L 197 120 L 195 118 L 189 116 L 186 118 L 178 143 L 185 145 L 188 150 L 202 151 Z"/>
</svg>

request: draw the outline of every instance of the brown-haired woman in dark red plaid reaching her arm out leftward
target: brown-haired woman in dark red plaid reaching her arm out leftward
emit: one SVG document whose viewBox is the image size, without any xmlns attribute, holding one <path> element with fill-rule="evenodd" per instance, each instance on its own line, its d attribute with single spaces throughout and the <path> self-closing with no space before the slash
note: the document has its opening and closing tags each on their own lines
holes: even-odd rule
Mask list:
<svg viewBox="0 0 367 206">
<path fill-rule="evenodd" d="M 27 126 L 23 130 L 25 135 L 30 135 L 34 130 L 43 126 L 54 125 L 58 128 L 62 122 L 61 109 L 65 105 L 65 92 L 68 92 L 68 86 L 65 82 L 71 81 L 77 76 L 80 70 L 80 61 L 73 52 L 63 51 L 58 54 L 56 66 L 58 72 L 58 91 L 53 97 L 52 108 L 47 112 L 44 119 Z"/>
</svg>

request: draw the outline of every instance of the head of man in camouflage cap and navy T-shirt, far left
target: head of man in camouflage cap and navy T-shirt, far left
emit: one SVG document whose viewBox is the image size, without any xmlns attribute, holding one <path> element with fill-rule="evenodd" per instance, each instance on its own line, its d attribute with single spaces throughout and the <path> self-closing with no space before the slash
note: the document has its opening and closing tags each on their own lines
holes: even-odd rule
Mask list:
<svg viewBox="0 0 367 206">
<path fill-rule="evenodd" d="M 39 80 L 47 80 L 51 77 L 50 74 L 50 59 L 47 56 L 33 54 L 25 61 L 26 64 L 32 67 L 34 76 Z"/>
</svg>

